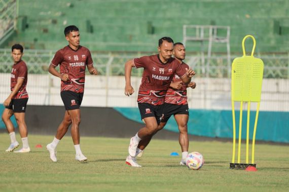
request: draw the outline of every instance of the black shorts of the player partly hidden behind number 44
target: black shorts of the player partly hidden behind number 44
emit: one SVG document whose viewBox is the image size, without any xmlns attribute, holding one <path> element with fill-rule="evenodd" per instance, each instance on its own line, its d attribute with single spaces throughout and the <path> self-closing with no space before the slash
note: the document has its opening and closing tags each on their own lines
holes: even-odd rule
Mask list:
<svg viewBox="0 0 289 192">
<path fill-rule="evenodd" d="M 189 115 L 189 106 L 186 105 L 174 105 L 174 104 L 164 104 L 164 117 L 161 122 L 167 122 L 172 115 Z"/>
</svg>

